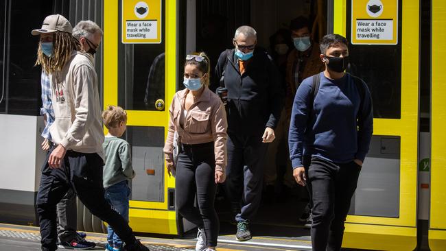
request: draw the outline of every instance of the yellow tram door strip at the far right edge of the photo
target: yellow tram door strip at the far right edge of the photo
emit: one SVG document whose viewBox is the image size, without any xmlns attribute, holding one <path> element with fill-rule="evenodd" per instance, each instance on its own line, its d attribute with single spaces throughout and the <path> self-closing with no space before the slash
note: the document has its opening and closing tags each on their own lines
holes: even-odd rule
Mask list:
<svg viewBox="0 0 446 251">
<path fill-rule="evenodd" d="M 432 2 L 432 51 L 431 51 L 431 196 L 429 246 L 431 250 L 446 249 L 446 2 Z"/>
</svg>

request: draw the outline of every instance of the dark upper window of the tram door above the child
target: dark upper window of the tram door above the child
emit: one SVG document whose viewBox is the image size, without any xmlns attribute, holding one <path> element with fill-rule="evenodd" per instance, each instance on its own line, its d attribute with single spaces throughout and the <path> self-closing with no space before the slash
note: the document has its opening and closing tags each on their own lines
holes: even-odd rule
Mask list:
<svg viewBox="0 0 446 251">
<path fill-rule="evenodd" d="M 161 1 L 161 43 L 123 44 L 118 22 L 118 104 L 126 110 L 157 110 L 165 101 L 165 1 Z M 121 20 L 119 1 L 119 20 Z"/>
</svg>

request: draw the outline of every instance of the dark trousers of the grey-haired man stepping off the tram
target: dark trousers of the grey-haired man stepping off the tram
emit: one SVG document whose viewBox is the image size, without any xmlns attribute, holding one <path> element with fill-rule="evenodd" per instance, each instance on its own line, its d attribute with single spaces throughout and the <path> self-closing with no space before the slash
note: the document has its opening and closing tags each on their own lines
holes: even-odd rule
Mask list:
<svg viewBox="0 0 446 251">
<path fill-rule="evenodd" d="M 261 133 L 238 135 L 228 133 L 226 141 L 228 166 L 226 167 L 226 196 L 233 206 L 241 210 L 237 222 L 253 219 L 261 201 L 263 169 L 268 144 L 261 142 Z"/>
</svg>

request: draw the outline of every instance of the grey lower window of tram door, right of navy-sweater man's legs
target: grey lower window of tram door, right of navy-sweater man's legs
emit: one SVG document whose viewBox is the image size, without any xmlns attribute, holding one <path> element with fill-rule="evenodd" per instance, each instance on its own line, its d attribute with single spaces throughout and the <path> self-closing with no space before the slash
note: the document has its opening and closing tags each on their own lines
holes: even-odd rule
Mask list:
<svg viewBox="0 0 446 251">
<path fill-rule="evenodd" d="M 374 135 L 349 214 L 399 217 L 399 136 Z"/>
</svg>

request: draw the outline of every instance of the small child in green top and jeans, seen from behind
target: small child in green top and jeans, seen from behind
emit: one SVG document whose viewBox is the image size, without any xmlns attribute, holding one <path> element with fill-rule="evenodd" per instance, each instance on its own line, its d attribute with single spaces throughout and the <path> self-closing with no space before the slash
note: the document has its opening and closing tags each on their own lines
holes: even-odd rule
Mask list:
<svg viewBox="0 0 446 251">
<path fill-rule="evenodd" d="M 105 198 L 115 210 L 128 221 L 128 201 L 130 187 L 128 181 L 134 178 L 130 145 L 124 139 L 119 139 L 126 131 L 127 114 L 119 106 L 108 106 L 102 112 L 104 125 L 108 129 L 104 139 L 106 161 L 104 165 Z M 122 241 L 108 226 L 106 250 L 123 250 Z"/>
</svg>

